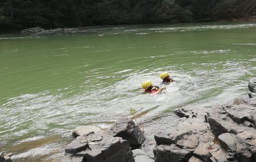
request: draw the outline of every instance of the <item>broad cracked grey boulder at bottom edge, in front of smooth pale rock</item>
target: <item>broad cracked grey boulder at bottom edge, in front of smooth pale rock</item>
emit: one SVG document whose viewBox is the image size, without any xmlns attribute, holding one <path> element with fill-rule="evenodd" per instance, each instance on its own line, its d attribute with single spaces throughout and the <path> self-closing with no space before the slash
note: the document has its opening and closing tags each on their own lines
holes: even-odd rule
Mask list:
<svg viewBox="0 0 256 162">
<path fill-rule="evenodd" d="M 82 159 L 81 162 L 134 162 L 128 141 L 107 134 L 78 136 L 67 145 L 65 152 L 62 162 L 71 162 L 70 158 Z"/>
</svg>

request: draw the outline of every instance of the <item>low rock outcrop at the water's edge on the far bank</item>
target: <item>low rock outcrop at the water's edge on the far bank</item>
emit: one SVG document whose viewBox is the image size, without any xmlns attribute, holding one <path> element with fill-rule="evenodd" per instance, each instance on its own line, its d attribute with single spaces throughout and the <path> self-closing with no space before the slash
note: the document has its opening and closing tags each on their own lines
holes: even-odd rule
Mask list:
<svg viewBox="0 0 256 162">
<path fill-rule="evenodd" d="M 40 27 L 35 27 L 35 28 L 29 28 L 29 29 L 24 29 L 21 31 L 21 33 L 39 33 L 39 32 L 72 32 L 77 30 L 77 28 L 56 28 L 52 30 L 44 30 L 43 28 Z"/>
</svg>

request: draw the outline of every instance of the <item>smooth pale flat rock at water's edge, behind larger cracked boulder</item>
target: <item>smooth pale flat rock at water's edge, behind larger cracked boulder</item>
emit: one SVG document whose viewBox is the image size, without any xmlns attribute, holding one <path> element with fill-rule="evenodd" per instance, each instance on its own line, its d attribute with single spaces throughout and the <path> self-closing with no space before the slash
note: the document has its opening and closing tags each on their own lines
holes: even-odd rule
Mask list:
<svg viewBox="0 0 256 162">
<path fill-rule="evenodd" d="M 88 134 L 93 134 L 99 131 L 101 131 L 101 128 L 94 126 L 78 126 L 75 128 L 72 134 L 75 136 L 87 136 Z"/>
</svg>

